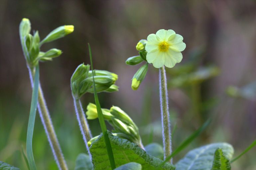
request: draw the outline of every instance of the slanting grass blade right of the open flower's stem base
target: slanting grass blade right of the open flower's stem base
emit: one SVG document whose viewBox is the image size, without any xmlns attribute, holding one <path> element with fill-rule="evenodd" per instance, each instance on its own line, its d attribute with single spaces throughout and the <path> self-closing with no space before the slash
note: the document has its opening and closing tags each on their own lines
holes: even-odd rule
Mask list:
<svg viewBox="0 0 256 170">
<path fill-rule="evenodd" d="M 171 155 L 169 155 L 164 161 L 163 163 L 160 165 L 160 167 L 162 165 L 164 165 L 166 162 L 168 162 L 172 157 L 174 157 L 175 155 L 177 155 L 180 151 L 182 151 L 185 147 L 187 147 L 196 137 L 198 137 L 210 124 L 211 122 L 211 118 L 209 118 L 206 122 L 204 122 L 204 124 L 197 129 L 192 135 L 190 135 L 185 141 L 183 141 L 178 147 L 177 149 L 175 149 L 173 151 L 173 153 Z"/>
</svg>

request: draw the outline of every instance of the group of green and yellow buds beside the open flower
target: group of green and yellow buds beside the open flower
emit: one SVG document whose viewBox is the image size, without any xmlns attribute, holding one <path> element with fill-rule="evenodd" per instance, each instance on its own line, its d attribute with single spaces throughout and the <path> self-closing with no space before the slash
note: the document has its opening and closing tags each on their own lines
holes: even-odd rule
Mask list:
<svg viewBox="0 0 256 170">
<path fill-rule="evenodd" d="M 143 61 L 146 61 L 146 56 L 147 56 L 147 51 L 145 50 L 145 46 L 146 46 L 147 40 L 145 39 L 141 39 L 137 45 L 136 45 L 136 50 L 139 52 L 139 55 L 137 56 L 133 56 L 133 57 L 129 57 L 126 60 L 126 64 L 127 65 L 137 65 L 140 64 Z M 135 75 L 132 78 L 132 89 L 133 90 L 137 90 L 141 84 L 141 82 L 144 80 L 146 74 L 148 72 L 148 62 L 146 64 L 144 64 L 143 66 L 141 66 L 139 68 L 139 70 L 135 73 Z"/>
</svg>

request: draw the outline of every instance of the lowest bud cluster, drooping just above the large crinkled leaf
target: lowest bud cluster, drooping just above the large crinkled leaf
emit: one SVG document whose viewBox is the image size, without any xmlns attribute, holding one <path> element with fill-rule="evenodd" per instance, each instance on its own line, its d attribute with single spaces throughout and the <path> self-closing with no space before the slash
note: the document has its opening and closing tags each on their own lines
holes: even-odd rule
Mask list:
<svg viewBox="0 0 256 170">
<path fill-rule="evenodd" d="M 132 119 L 119 107 L 112 106 L 110 109 L 101 109 L 104 120 L 114 128 L 113 133 L 120 137 L 141 145 L 139 129 Z M 86 111 L 87 119 L 96 119 L 98 117 L 96 105 L 89 103 Z M 96 137 L 95 137 L 96 138 Z M 88 145 L 95 140 L 94 138 L 88 142 Z"/>
</svg>

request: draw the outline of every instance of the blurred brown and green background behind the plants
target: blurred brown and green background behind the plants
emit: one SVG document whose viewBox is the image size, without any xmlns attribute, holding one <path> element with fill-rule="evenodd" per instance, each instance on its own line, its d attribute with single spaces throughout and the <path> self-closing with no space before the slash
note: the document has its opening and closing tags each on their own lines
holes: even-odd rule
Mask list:
<svg viewBox="0 0 256 170">
<path fill-rule="evenodd" d="M 167 69 L 173 148 L 213 117 L 174 162 L 209 142 L 229 142 L 234 156 L 239 155 L 256 138 L 255 9 L 254 0 L 1 0 L 0 160 L 27 169 L 21 150 L 26 147 L 32 90 L 19 39 L 22 18 L 30 19 L 41 39 L 54 28 L 74 25 L 73 33 L 41 48 L 59 48 L 63 54 L 40 63 L 41 85 L 69 169 L 74 169 L 76 156 L 86 152 L 70 77 L 79 64 L 89 64 L 88 42 L 94 68 L 119 75 L 119 92 L 99 94 L 102 108 L 115 105 L 126 111 L 139 126 L 144 145 L 162 143 L 158 70 L 150 65 L 140 88 L 133 91 L 131 79 L 140 66 L 125 64 L 138 55 L 137 42 L 159 29 L 175 30 L 187 44 L 182 62 Z M 88 102 L 94 102 L 92 94 L 82 97 L 84 109 Z M 99 135 L 98 120 L 89 124 L 93 136 Z M 57 169 L 38 114 L 33 151 L 38 169 Z M 232 170 L 256 169 L 255 162 L 254 148 L 232 163 Z"/>
</svg>

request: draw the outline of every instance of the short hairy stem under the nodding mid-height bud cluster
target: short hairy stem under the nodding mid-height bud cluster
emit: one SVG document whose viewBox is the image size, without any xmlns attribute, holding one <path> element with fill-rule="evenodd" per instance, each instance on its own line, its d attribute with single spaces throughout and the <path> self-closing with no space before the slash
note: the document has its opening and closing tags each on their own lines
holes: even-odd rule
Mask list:
<svg viewBox="0 0 256 170">
<path fill-rule="evenodd" d="M 90 151 L 89 151 L 89 146 L 87 144 L 87 142 L 92 138 L 90 128 L 89 128 L 87 120 L 84 116 L 84 111 L 83 111 L 80 100 L 76 99 L 75 97 L 73 97 L 73 99 L 74 99 L 76 118 L 77 118 L 77 121 L 78 121 L 78 124 L 79 124 L 79 127 L 80 127 L 80 131 L 81 131 L 82 136 L 83 136 L 83 141 L 84 141 L 85 146 L 87 148 L 88 154 L 91 157 L 91 154 L 90 154 Z"/>
</svg>

